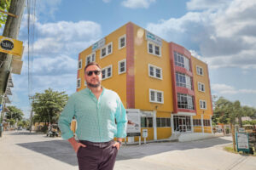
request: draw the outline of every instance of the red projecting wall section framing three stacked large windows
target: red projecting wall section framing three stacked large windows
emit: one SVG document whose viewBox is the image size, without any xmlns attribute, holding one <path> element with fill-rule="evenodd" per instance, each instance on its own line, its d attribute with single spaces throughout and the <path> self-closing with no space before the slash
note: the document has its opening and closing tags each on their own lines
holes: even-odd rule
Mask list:
<svg viewBox="0 0 256 170">
<path fill-rule="evenodd" d="M 169 43 L 169 49 L 170 49 L 170 62 L 171 62 L 171 71 L 172 71 L 172 94 L 173 94 L 173 111 L 174 113 L 177 113 L 178 111 L 182 111 L 182 112 L 196 112 L 196 105 L 195 105 L 195 92 L 194 92 L 194 81 L 193 81 L 193 73 L 192 73 L 192 61 L 191 61 L 191 54 L 189 52 L 189 50 L 187 50 L 186 48 L 183 48 L 182 46 L 170 42 Z M 191 71 L 187 71 L 185 68 L 179 67 L 175 65 L 175 61 L 174 61 L 174 51 L 176 51 L 179 54 L 183 54 L 185 55 L 189 60 L 189 65 L 190 65 L 190 69 Z M 181 87 L 177 87 L 176 85 L 176 71 L 184 73 L 186 75 L 188 75 L 189 77 L 191 77 L 191 84 L 192 84 L 192 90 L 188 89 L 188 88 L 181 88 Z M 181 93 L 181 94 L 189 94 L 194 96 L 194 107 L 195 110 L 188 110 L 188 109 L 178 109 L 177 108 L 177 93 Z"/>
</svg>

